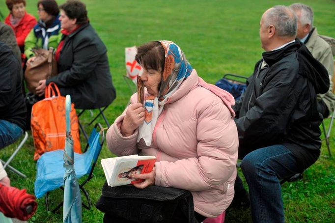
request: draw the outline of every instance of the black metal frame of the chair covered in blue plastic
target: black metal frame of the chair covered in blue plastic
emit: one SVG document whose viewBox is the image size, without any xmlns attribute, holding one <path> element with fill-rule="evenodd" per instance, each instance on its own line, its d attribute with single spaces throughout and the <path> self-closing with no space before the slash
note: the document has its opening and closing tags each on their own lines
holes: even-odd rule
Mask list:
<svg viewBox="0 0 335 223">
<path fill-rule="evenodd" d="M 100 131 L 102 132 L 102 134 L 101 134 L 101 139 L 100 139 L 100 146 L 101 146 L 101 149 L 102 149 L 102 145 L 103 145 L 104 142 L 105 142 L 105 132 L 104 132 L 104 129 L 103 129 L 103 127 L 101 126 L 100 123 L 95 124 L 94 128 L 96 128 L 97 126 L 99 126 Z M 88 147 L 89 147 L 89 144 L 88 144 L 88 142 L 87 142 L 87 143 L 86 143 L 86 146 L 85 146 L 85 150 L 84 150 L 84 152 L 87 151 Z M 100 150 L 100 152 L 101 152 L 101 150 Z M 99 152 L 99 154 L 100 154 L 100 152 Z M 99 155 L 98 155 L 97 157 L 99 157 Z M 91 208 L 91 206 L 92 206 L 92 202 L 91 202 L 91 199 L 90 199 L 90 197 L 89 197 L 89 195 L 88 195 L 88 192 L 87 192 L 87 191 L 85 190 L 85 188 L 84 188 L 84 185 L 85 185 L 90 179 L 92 179 L 92 177 L 93 177 L 93 170 L 94 170 L 94 167 L 96 166 L 97 161 L 98 161 L 98 158 L 97 158 L 97 160 L 93 160 L 93 162 L 92 162 L 92 167 L 91 167 L 91 171 L 90 171 L 89 174 L 87 175 L 86 179 L 79 185 L 80 190 L 84 193 L 84 195 L 85 195 L 85 197 L 86 197 L 86 199 L 87 199 L 87 204 L 84 204 L 84 203 L 82 202 L 83 207 L 86 208 L 87 210 L 89 210 L 89 209 Z M 63 187 L 63 186 L 59 187 L 59 189 L 61 189 L 61 190 L 64 191 L 64 187 Z M 46 207 L 47 207 L 47 211 L 50 211 L 48 195 L 49 195 L 49 192 L 47 192 L 47 194 L 45 195 L 45 204 L 46 204 Z M 60 202 L 60 203 L 59 203 L 59 204 L 58 204 L 58 205 L 57 205 L 51 212 L 55 213 L 61 206 L 63 206 L 63 201 Z"/>
</svg>

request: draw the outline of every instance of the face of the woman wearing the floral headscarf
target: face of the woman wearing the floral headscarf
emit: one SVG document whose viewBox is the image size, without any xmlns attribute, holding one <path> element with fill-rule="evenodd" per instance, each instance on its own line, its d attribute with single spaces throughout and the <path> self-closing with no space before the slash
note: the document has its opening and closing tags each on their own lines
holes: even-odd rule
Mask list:
<svg viewBox="0 0 335 223">
<path fill-rule="evenodd" d="M 143 85 L 148 90 L 148 93 L 154 96 L 158 96 L 159 93 L 159 85 L 162 80 L 162 72 L 154 69 L 144 69 L 141 74 L 141 80 L 143 81 Z"/>
</svg>

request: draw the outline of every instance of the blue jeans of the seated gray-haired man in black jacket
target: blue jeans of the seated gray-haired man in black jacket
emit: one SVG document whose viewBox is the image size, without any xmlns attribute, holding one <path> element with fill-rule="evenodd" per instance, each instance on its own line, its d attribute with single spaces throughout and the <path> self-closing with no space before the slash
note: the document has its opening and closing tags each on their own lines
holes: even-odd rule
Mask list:
<svg viewBox="0 0 335 223">
<path fill-rule="evenodd" d="M 280 180 L 299 172 L 291 151 L 283 145 L 256 149 L 243 158 L 241 168 L 249 186 L 252 221 L 283 223 Z"/>
</svg>

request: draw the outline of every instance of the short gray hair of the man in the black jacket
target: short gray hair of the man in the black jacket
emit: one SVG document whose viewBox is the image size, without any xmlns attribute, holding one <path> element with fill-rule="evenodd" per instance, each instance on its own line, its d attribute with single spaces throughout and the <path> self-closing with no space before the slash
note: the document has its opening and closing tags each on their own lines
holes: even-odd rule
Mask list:
<svg viewBox="0 0 335 223">
<path fill-rule="evenodd" d="M 266 13 L 264 25 L 273 25 L 278 36 L 296 36 L 298 17 L 289 7 L 276 5 Z"/>
</svg>

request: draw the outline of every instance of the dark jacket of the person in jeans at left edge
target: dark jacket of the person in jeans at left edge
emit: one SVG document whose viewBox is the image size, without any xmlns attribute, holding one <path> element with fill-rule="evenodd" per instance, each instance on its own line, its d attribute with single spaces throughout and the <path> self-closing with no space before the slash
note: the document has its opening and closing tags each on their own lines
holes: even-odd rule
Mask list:
<svg viewBox="0 0 335 223">
<path fill-rule="evenodd" d="M 9 46 L 0 42 L 0 119 L 12 122 L 25 130 L 26 115 L 21 63 Z"/>
</svg>

